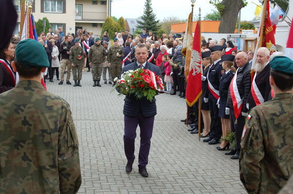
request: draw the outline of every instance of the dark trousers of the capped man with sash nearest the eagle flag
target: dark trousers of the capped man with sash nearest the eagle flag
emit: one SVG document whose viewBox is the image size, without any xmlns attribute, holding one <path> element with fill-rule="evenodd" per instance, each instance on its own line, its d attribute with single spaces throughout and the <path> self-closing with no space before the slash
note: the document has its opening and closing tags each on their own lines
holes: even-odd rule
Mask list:
<svg viewBox="0 0 293 194">
<path fill-rule="evenodd" d="M 212 118 L 210 137 L 212 137 L 215 140 L 219 140 L 222 136 L 221 118 L 219 118 L 217 99 L 211 95 L 209 95 L 209 106 Z"/>
</svg>

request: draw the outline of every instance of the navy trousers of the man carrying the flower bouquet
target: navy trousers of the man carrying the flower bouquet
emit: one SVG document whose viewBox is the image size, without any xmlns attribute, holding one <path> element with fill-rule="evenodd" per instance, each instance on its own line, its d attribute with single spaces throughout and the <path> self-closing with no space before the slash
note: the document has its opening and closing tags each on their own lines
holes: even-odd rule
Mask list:
<svg viewBox="0 0 293 194">
<path fill-rule="evenodd" d="M 134 145 L 136 138 L 136 128 L 139 125 L 140 128 L 140 148 L 138 154 L 139 166 L 147 166 L 148 158 L 151 147 L 151 138 L 154 127 L 153 117 L 145 118 L 141 114 L 137 117 L 127 117 L 124 115 L 124 152 L 127 161 L 133 162 L 134 156 Z"/>
</svg>

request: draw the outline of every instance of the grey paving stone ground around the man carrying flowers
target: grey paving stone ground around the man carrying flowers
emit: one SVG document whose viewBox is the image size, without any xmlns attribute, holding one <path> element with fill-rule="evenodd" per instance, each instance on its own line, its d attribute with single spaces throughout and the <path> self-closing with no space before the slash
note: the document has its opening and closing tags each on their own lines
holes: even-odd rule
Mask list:
<svg viewBox="0 0 293 194">
<path fill-rule="evenodd" d="M 90 72 L 82 76 L 82 87 L 58 85 L 56 77 L 47 82 L 48 91 L 69 102 L 74 117 L 82 173 L 79 193 L 246 193 L 239 161 L 191 135 L 179 121 L 186 115 L 185 100 L 168 94 L 156 96 L 149 177 L 138 173 L 139 127 L 134 169 L 126 174 L 123 97 L 103 81 L 102 87 L 92 87 Z"/>
</svg>

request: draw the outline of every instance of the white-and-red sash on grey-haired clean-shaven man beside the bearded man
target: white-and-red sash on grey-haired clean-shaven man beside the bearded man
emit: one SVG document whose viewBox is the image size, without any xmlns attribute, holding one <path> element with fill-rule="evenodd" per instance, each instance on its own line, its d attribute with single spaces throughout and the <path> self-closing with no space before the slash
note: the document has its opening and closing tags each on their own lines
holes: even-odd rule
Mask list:
<svg viewBox="0 0 293 194">
<path fill-rule="evenodd" d="M 233 102 L 233 109 L 234 109 L 234 115 L 235 119 L 239 117 L 241 114 L 241 110 L 243 107 L 243 99 L 241 99 L 238 88 L 237 88 L 237 83 L 236 83 L 236 78 L 237 78 L 237 72 L 239 68 L 237 69 L 231 83 L 230 83 L 230 94 L 231 94 L 231 99 Z"/>
</svg>

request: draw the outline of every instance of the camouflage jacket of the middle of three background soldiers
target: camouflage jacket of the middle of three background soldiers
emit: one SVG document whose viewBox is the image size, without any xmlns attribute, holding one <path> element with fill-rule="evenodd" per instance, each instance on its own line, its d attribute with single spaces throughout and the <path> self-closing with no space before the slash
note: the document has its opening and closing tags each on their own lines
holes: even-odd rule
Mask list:
<svg viewBox="0 0 293 194">
<path fill-rule="evenodd" d="M 88 62 L 102 63 L 106 58 L 106 50 L 102 45 L 94 44 L 88 52 Z"/>
</svg>

